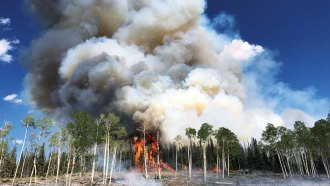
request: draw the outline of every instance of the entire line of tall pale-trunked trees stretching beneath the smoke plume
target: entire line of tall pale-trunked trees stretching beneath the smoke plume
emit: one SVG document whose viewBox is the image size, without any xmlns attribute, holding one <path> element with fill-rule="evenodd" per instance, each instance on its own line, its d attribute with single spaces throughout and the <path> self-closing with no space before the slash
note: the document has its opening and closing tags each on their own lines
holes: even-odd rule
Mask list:
<svg viewBox="0 0 330 186">
<path fill-rule="evenodd" d="M 92 183 L 98 173 L 102 184 L 111 184 L 114 172 L 135 170 L 141 165 L 143 170 L 138 171 L 145 172 L 146 177 L 148 171 L 157 171 L 158 178 L 165 165 L 175 173 L 186 171 L 188 177 L 193 170 L 203 170 L 205 180 L 208 171 L 222 178 L 230 176 L 232 170 L 272 171 L 282 173 L 284 178 L 320 174 L 329 178 L 330 174 L 330 113 L 311 128 L 301 121 L 296 121 L 292 130 L 268 124 L 261 141 L 239 141 L 229 129 L 213 129 L 204 123 L 199 129 L 187 128 L 186 136 L 177 136 L 172 144 L 161 145 L 158 140 L 157 144 L 148 143 L 145 139 L 138 161 L 136 142 L 128 138 L 120 118 L 112 113 L 93 118 L 75 112 L 59 131 L 52 125 L 47 117 L 35 119 L 29 115 L 23 119 L 24 139 L 18 141 L 9 136 L 12 124 L 6 122 L 0 130 L 0 177 L 13 178 L 12 183 L 17 178 L 29 178 L 31 183 L 38 177 L 51 177 L 57 183 L 62 176 L 62 181 L 70 185 L 73 174 L 82 177 L 88 172 Z M 31 128 L 37 133 L 29 132 Z M 146 133 L 141 130 L 137 137 L 146 138 Z M 10 145 L 12 141 L 14 145 Z M 157 170 L 152 169 L 152 160 L 146 154 L 157 156 Z"/>
</svg>

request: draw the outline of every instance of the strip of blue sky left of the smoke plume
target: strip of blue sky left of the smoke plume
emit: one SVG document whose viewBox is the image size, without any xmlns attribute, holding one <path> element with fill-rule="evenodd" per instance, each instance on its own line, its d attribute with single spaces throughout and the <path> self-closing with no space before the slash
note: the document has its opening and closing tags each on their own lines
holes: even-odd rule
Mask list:
<svg viewBox="0 0 330 186">
<path fill-rule="evenodd" d="M 11 62 L 0 62 L 0 121 L 10 121 L 14 124 L 12 135 L 22 139 L 24 130 L 20 127 L 21 120 L 31 112 L 25 103 L 17 104 L 3 99 L 12 94 L 17 94 L 16 100 L 23 99 L 23 81 L 26 74 L 25 68 L 19 62 L 19 51 L 27 47 L 38 33 L 38 25 L 32 19 L 22 1 L 1 1 L 0 17 L 9 18 L 10 23 L 0 25 L 0 39 L 8 41 L 19 40 L 12 44 L 12 50 L 8 54 L 12 56 Z"/>
</svg>

